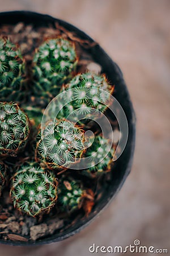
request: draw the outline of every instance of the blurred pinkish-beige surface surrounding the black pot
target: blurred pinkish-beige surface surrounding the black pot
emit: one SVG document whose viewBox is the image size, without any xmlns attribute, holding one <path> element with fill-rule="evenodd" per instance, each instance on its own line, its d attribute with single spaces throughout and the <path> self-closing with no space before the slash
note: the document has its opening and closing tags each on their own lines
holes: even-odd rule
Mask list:
<svg viewBox="0 0 170 256">
<path fill-rule="evenodd" d="M 169 249 L 170 255 L 170 1 L 1 0 L 0 6 L 1 11 L 49 14 L 90 35 L 122 69 L 137 115 L 131 174 L 100 217 L 65 241 L 0 245 L 0 255 L 85 256 L 91 255 L 92 243 L 128 246 L 136 239 L 143 246 Z"/>
</svg>

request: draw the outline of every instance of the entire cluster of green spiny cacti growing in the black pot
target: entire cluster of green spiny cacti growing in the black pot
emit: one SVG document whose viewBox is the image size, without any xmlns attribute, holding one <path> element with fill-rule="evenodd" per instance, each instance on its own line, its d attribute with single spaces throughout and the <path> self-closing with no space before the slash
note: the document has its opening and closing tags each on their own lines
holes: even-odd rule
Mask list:
<svg viewBox="0 0 170 256">
<path fill-rule="evenodd" d="M 32 59 L 31 76 L 27 77 L 30 70 L 25 72 L 18 47 L 8 39 L 0 39 L 0 196 L 6 183 L 7 160 L 13 167 L 10 196 L 16 209 L 35 217 L 48 213 L 58 197 L 59 209 L 73 212 L 82 206 L 87 195 L 83 175 L 97 179 L 110 171 L 113 156 L 113 148 L 109 148 L 108 140 L 100 135 L 87 147 L 86 122 L 81 126 L 76 123 L 79 116 L 76 111 L 87 120 L 92 117 L 92 109 L 99 118 L 99 113 L 104 113 L 111 104 L 114 86 L 105 75 L 88 72 L 76 73 L 73 77 L 78 57 L 75 44 L 70 40 L 45 40 Z M 46 122 L 40 131 L 42 109 L 59 92 L 62 92 L 63 102 L 58 104 L 63 108 L 55 121 Z M 18 101 L 23 109 L 16 103 Z M 63 106 L 65 102 L 69 103 Z M 67 116 L 74 110 L 70 121 Z M 80 176 L 83 174 L 80 180 L 61 175 L 86 157 L 91 167 L 78 172 Z"/>
</svg>

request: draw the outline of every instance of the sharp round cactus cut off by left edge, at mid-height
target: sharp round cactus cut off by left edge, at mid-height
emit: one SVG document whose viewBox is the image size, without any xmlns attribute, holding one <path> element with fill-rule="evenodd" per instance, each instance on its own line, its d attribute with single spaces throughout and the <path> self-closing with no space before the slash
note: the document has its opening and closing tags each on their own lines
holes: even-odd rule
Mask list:
<svg viewBox="0 0 170 256">
<path fill-rule="evenodd" d="M 15 155 L 27 143 L 30 123 L 18 104 L 0 102 L 0 156 Z"/>
</svg>

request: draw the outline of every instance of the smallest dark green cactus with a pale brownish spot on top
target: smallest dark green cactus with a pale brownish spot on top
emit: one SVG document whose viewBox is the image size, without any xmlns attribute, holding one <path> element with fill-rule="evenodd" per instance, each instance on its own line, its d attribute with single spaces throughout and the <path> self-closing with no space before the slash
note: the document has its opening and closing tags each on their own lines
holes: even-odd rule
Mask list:
<svg viewBox="0 0 170 256">
<path fill-rule="evenodd" d="M 85 191 L 79 181 L 73 177 L 62 177 L 58 180 L 58 204 L 61 211 L 73 212 L 81 207 Z"/>
</svg>

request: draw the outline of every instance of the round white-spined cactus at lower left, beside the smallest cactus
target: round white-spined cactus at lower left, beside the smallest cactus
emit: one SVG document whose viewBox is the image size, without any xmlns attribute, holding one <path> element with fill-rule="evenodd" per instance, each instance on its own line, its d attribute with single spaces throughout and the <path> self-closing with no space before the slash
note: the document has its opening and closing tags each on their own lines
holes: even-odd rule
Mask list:
<svg viewBox="0 0 170 256">
<path fill-rule="evenodd" d="M 57 200 L 57 181 L 37 163 L 26 163 L 11 178 L 14 207 L 29 216 L 48 213 Z"/>
</svg>

